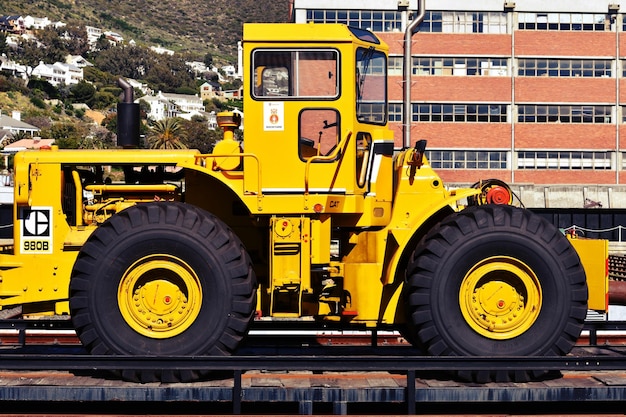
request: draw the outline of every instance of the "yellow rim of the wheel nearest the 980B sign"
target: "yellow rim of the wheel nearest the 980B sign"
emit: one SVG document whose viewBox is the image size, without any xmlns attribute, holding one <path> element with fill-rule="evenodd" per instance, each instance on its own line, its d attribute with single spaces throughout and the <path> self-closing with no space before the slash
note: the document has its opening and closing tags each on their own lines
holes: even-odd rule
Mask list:
<svg viewBox="0 0 626 417">
<path fill-rule="evenodd" d="M 171 255 L 151 255 L 126 270 L 118 288 L 126 323 L 153 339 L 181 334 L 200 313 L 202 286 L 193 269 Z"/>
</svg>

